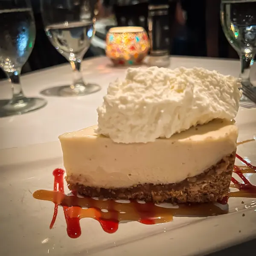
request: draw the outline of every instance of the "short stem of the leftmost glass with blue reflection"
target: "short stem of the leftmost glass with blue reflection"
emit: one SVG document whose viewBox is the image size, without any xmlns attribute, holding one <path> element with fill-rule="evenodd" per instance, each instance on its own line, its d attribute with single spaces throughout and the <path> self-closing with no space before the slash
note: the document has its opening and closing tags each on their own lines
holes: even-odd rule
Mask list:
<svg viewBox="0 0 256 256">
<path fill-rule="evenodd" d="M 15 72 L 8 73 L 9 79 L 12 81 L 12 104 L 20 102 L 20 100 L 25 99 L 23 90 L 20 84 L 20 69 L 15 70 Z"/>
</svg>

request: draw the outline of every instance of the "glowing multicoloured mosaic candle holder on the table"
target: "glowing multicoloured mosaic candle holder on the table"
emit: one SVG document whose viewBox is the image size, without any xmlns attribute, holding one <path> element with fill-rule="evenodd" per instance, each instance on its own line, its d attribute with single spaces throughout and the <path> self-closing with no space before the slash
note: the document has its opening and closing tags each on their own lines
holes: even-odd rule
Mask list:
<svg viewBox="0 0 256 256">
<path fill-rule="evenodd" d="M 109 29 L 106 55 L 115 65 L 140 64 L 148 54 L 149 40 L 143 27 L 127 26 Z"/>
</svg>

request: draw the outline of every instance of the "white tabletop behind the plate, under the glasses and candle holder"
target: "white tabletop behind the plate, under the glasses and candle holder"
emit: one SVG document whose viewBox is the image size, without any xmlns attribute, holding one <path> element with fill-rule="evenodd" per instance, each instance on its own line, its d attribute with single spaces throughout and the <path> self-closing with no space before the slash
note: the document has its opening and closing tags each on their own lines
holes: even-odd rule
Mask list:
<svg viewBox="0 0 256 256">
<path fill-rule="evenodd" d="M 169 68 L 176 67 L 203 67 L 231 76 L 239 76 L 240 72 L 240 62 L 236 59 L 172 56 Z M 105 56 L 87 58 L 82 63 L 84 81 L 99 84 L 102 89 L 86 96 L 72 97 L 42 94 L 48 88 L 72 82 L 72 71 L 68 63 L 24 74 L 21 76 L 24 94 L 27 97 L 44 97 L 47 105 L 37 111 L 0 118 L 0 150 L 54 142 L 65 132 L 95 125 L 96 109 L 102 104 L 109 83 L 123 79 L 126 70 L 127 67 L 114 67 Z M 251 68 L 250 79 L 256 86 L 256 67 Z M 7 79 L 1 80 L 0 98 L 11 99 L 11 96 L 10 82 Z"/>
</svg>

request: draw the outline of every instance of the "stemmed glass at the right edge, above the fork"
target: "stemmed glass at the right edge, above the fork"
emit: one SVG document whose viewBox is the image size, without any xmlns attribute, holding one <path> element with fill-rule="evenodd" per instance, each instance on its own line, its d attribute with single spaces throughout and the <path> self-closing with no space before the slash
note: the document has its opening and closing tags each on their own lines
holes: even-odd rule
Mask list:
<svg viewBox="0 0 256 256">
<path fill-rule="evenodd" d="M 250 67 L 256 53 L 256 0 L 221 0 L 221 25 L 241 60 L 242 84 L 250 83 Z"/>
</svg>

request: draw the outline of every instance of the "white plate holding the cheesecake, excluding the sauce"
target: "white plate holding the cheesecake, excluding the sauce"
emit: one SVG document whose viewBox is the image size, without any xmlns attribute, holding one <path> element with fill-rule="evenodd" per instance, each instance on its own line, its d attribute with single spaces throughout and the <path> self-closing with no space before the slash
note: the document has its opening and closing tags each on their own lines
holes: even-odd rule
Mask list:
<svg viewBox="0 0 256 256">
<path fill-rule="evenodd" d="M 256 137 L 256 109 L 240 110 L 236 122 L 239 141 Z M 237 152 L 256 165 L 255 141 L 239 145 Z M 113 234 L 85 218 L 82 235 L 70 239 L 63 211 L 49 230 L 54 204 L 32 197 L 37 189 L 53 189 L 57 167 L 63 167 L 58 142 L 0 151 L 0 255 L 203 255 L 256 236 L 256 199 L 230 198 L 226 215 L 176 217 L 157 225 L 121 223 Z M 249 179 L 256 185 L 255 176 Z"/>
</svg>

